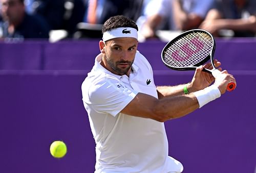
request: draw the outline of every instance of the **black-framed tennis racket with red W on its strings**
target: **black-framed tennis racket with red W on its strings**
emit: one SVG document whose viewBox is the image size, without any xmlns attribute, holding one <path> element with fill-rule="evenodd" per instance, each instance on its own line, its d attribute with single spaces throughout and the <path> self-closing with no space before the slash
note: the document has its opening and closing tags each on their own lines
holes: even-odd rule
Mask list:
<svg viewBox="0 0 256 173">
<path fill-rule="evenodd" d="M 186 31 L 172 41 L 169 41 L 162 50 L 162 61 L 174 70 L 196 70 L 209 59 L 212 69 L 204 68 L 203 71 L 216 76 L 220 71 L 214 65 L 215 39 L 205 30 L 195 29 Z M 227 91 L 236 88 L 234 82 L 229 82 Z"/>
</svg>

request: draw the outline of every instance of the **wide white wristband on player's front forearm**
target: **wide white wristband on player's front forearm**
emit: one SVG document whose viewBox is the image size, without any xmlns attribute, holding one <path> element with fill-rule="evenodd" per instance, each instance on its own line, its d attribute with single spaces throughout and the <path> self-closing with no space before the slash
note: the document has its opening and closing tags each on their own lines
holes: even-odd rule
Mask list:
<svg viewBox="0 0 256 173">
<path fill-rule="evenodd" d="M 221 92 L 216 85 L 211 85 L 203 90 L 194 92 L 194 95 L 197 97 L 199 108 L 202 108 L 207 103 L 219 98 Z"/>
</svg>

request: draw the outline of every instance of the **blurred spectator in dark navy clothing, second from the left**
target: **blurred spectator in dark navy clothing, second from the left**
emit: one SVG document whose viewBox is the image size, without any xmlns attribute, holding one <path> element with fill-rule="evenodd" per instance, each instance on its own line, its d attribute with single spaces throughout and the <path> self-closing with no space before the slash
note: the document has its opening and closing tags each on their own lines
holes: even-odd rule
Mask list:
<svg viewBox="0 0 256 173">
<path fill-rule="evenodd" d="M 39 14 L 48 21 L 51 30 L 66 30 L 68 37 L 76 31 L 77 23 L 83 20 L 85 6 L 83 0 L 27 0 L 32 13 Z M 31 5 L 31 1 L 32 5 Z"/>
</svg>

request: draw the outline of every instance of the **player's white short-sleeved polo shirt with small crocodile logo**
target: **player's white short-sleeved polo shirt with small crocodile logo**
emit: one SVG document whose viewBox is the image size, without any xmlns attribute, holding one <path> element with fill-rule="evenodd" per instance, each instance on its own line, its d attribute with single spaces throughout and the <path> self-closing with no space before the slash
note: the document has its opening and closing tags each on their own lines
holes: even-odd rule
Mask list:
<svg viewBox="0 0 256 173">
<path fill-rule="evenodd" d="M 95 172 L 181 172 L 168 156 L 164 123 L 120 113 L 139 92 L 157 98 L 150 63 L 136 53 L 130 77 L 100 65 L 102 55 L 82 83 L 83 104 L 96 142 Z M 136 109 L 136 108 L 134 108 Z"/>
</svg>

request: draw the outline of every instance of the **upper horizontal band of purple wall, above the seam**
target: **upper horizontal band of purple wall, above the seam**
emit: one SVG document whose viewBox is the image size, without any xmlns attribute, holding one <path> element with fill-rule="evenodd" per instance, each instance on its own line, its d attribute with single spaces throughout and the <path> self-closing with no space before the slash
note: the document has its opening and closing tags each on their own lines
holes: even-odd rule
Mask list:
<svg viewBox="0 0 256 173">
<path fill-rule="evenodd" d="M 140 43 L 138 50 L 154 64 L 154 70 L 166 69 L 161 51 L 166 43 L 152 40 Z M 215 58 L 229 70 L 255 70 L 256 39 L 217 39 Z M 91 69 L 99 53 L 98 40 L 26 41 L 0 43 L 0 70 L 84 70 Z M 252 61 L 252 63 L 248 63 Z"/>
</svg>

